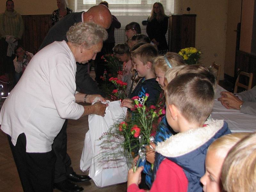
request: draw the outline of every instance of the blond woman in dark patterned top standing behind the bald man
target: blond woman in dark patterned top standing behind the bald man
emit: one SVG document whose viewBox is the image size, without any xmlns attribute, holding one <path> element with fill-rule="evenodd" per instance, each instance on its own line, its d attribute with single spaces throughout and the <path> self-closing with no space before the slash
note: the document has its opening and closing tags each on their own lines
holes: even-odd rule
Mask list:
<svg viewBox="0 0 256 192">
<path fill-rule="evenodd" d="M 58 6 L 58 9 L 52 12 L 52 26 L 55 23 L 57 23 L 59 20 L 61 20 L 63 17 L 73 12 L 72 9 L 69 9 L 67 7 L 68 6 L 67 0 L 57 0 L 57 6 Z"/>
</svg>

